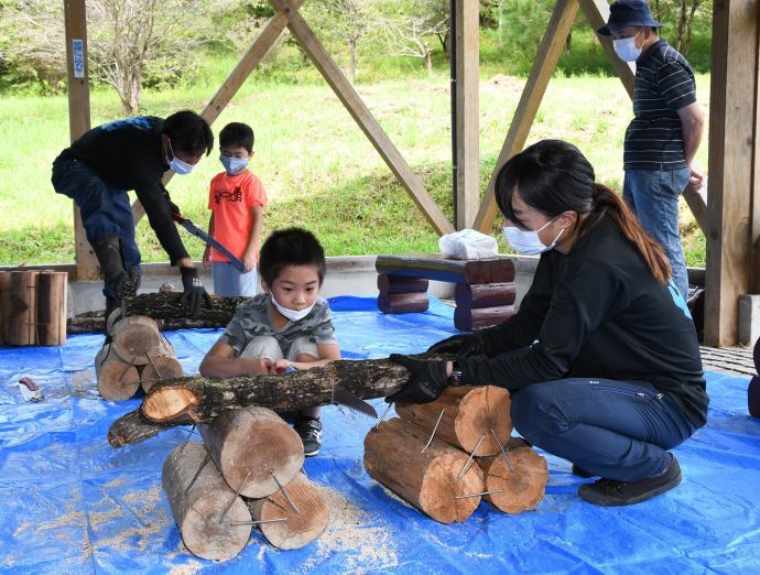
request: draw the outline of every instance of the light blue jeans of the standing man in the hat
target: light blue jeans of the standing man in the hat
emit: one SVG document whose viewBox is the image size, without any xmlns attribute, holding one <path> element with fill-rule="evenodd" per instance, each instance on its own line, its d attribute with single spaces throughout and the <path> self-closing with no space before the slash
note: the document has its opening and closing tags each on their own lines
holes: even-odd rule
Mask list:
<svg viewBox="0 0 760 575">
<path fill-rule="evenodd" d="M 626 170 L 622 196 L 644 230 L 662 246 L 671 263 L 673 283 L 688 297 L 686 260 L 678 234 L 678 197 L 688 184 L 690 170 Z"/>
</svg>

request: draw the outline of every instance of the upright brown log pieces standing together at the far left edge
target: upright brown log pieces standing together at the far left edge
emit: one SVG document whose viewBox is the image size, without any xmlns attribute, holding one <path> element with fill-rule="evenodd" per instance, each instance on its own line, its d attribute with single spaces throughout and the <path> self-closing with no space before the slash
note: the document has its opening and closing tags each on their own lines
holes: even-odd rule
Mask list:
<svg viewBox="0 0 760 575">
<path fill-rule="evenodd" d="M 0 345 L 66 343 L 67 273 L 0 272 Z"/>
</svg>

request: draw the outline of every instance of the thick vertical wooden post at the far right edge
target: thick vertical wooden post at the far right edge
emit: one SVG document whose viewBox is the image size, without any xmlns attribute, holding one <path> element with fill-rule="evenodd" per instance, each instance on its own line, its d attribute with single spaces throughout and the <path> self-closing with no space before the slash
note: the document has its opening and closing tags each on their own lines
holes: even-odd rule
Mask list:
<svg viewBox="0 0 760 575">
<path fill-rule="evenodd" d="M 758 1 L 715 0 L 705 280 L 705 345 L 713 347 L 737 343 L 739 295 L 749 291 L 757 42 Z"/>
</svg>

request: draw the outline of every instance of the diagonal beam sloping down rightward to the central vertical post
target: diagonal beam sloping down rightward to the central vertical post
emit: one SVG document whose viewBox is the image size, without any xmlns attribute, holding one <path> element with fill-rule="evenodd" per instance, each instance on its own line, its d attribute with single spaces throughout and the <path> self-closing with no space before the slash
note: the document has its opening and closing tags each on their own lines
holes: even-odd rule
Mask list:
<svg viewBox="0 0 760 575">
<path fill-rule="evenodd" d="M 380 127 L 365 102 L 350 85 L 340 68 L 330 58 L 327 51 L 319 43 L 314 32 L 304 21 L 301 14 L 293 9 L 292 0 L 270 0 L 270 3 L 281 12 L 287 14 L 287 28 L 291 33 L 301 42 L 314 65 L 317 67 L 327 84 L 333 88 L 336 96 L 340 99 L 354 120 L 359 124 L 361 131 L 372 143 L 378 153 L 391 169 L 402 186 L 409 192 L 410 196 L 422 210 L 427 221 L 433 226 L 437 234 L 449 234 L 454 227 L 446 219 L 446 216 L 430 196 L 422 181 L 412 172 L 406 161 L 399 150 L 393 145 L 391 139 Z"/>
</svg>

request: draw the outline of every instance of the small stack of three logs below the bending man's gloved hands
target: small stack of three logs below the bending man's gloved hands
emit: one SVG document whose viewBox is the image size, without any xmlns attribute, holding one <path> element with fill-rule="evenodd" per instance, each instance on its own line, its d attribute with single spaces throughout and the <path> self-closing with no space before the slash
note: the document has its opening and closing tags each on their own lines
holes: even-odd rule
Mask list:
<svg viewBox="0 0 760 575">
<path fill-rule="evenodd" d="M 95 357 L 100 395 L 123 401 L 141 384 L 148 392 L 159 380 L 182 377 L 174 346 L 161 336 L 155 321 L 145 316 L 117 319 L 117 312 L 109 322 L 110 341 Z"/>
</svg>

